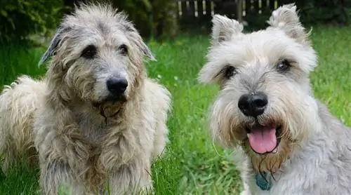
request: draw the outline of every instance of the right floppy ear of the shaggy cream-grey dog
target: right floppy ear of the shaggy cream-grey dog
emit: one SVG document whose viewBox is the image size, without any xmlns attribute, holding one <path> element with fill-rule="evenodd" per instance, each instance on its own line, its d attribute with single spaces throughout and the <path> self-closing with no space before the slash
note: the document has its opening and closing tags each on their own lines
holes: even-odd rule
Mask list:
<svg viewBox="0 0 351 195">
<path fill-rule="evenodd" d="M 135 45 L 138 46 L 140 51 L 142 51 L 142 53 L 146 55 L 147 58 L 149 58 L 150 60 L 157 61 L 156 58 L 154 58 L 154 54 L 151 52 L 150 48 L 145 44 L 143 38 L 140 36 L 138 30 L 135 29 L 133 24 L 131 24 L 130 22 L 126 22 L 124 23 L 124 27 L 127 31 L 127 34 L 131 36 L 131 41 L 133 41 L 133 43 L 135 43 Z"/>
</svg>

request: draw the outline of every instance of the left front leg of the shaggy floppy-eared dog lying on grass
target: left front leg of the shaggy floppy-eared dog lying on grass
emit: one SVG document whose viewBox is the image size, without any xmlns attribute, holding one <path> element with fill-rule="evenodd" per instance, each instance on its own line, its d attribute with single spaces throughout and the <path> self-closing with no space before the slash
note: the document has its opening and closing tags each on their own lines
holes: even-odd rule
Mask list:
<svg viewBox="0 0 351 195">
<path fill-rule="evenodd" d="M 42 194 L 56 195 L 59 191 L 63 194 L 84 194 L 81 177 L 87 170 L 86 162 L 89 157 L 84 137 L 72 125 L 58 129 L 51 126 L 40 127 L 35 131 L 35 143 L 39 151 Z"/>
</svg>

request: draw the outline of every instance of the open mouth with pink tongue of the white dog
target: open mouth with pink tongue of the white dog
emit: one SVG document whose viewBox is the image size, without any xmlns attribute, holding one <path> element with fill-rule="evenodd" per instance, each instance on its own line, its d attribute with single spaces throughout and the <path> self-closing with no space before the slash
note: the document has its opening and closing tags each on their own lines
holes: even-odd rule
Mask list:
<svg viewBox="0 0 351 195">
<path fill-rule="evenodd" d="M 281 132 L 282 126 L 261 126 L 258 124 L 246 128 L 250 147 L 257 154 L 277 153 Z"/>
</svg>

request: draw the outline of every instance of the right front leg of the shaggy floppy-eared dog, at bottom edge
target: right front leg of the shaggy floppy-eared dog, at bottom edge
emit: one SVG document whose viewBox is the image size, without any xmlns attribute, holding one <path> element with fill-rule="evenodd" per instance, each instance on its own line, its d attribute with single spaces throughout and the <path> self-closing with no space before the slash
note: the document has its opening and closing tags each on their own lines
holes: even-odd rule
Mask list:
<svg viewBox="0 0 351 195">
<path fill-rule="evenodd" d="M 150 163 L 140 159 L 112 170 L 107 191 L 113 195 L 152 194 Z"/>
</svg>

